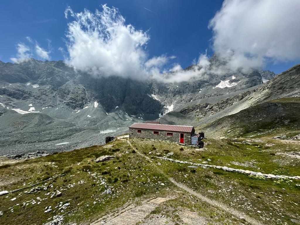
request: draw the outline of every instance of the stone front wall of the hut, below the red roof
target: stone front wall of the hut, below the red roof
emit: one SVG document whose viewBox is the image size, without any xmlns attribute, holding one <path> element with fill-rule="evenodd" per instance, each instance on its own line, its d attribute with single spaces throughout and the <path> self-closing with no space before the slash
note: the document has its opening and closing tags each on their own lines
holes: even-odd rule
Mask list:
<svg viewBox="0 0 300 225">
<path fill-rule="evenodd" d="M 137 130 L 141 130 L 142 133 L 137 133 Z M 190 145 L 190 133 L 187 132 L 175 132 L 175 131 L 158 131 L 159 134 L 153 134 L 153 130 L 145 130 L 145 129 L 129 129 L 129 137 L 136 138 L 146 138 L 146 139 L 157 139 L 157 140 L 167 140 L 180 143 L 179 135 L 180 133 L 184 133 L 184 144 Z M 167 136 L 167 132 L 173 133 L 173 136 Z"/>
</svg>

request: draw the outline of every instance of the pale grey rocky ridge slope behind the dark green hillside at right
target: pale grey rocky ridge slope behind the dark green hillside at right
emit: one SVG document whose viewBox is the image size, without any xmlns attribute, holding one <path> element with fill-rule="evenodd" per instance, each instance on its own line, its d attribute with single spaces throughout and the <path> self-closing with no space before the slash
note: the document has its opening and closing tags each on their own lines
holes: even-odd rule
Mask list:
<svg viewBox="0 0 300 225">
<path fill-rule="evenodd" d="M 184 104 L 163 116 L 161 121 L 163 123 L 173 121 L 181 125 L 188 122 L 203 127 L 224 116 L 238 113 L 265 101 L 300 96 L 299 78 L 300 64 L 278 74 L 263 85 L 225 95 L 225 98 L 204 98 Z"/>
</svg>

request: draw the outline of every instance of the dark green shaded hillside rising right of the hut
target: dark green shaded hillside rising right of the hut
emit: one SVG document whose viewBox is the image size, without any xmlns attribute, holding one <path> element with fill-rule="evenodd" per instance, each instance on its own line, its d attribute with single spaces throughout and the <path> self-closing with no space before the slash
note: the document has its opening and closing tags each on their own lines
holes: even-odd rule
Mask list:
<svg viewBox="0 0 300 225">
<path fill-rule="evenodd" d="M 224 116 L 201 129 L 214 137 L 260 137 L 300 134 L 300 98 L 266 101 Z M 292 136 L 291 136 L 292 137 Z"/>
</svg>

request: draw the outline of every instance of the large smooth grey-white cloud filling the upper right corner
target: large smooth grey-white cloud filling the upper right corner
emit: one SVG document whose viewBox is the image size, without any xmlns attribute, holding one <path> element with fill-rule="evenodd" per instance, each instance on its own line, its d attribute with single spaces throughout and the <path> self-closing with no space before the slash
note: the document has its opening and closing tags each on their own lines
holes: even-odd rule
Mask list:
<svg viewBox="0 0 300 225">
<path fill-rule="evenodd" d="M 213 49 L 232 69 L 300 59 L 299 0 L 225 0 L 210 20 Z"/>
</svg>

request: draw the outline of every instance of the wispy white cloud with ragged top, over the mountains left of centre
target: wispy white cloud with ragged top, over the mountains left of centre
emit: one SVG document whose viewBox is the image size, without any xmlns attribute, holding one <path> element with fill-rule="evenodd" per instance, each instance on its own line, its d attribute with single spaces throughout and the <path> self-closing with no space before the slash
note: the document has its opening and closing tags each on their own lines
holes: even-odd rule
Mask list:
<svg viewBox="0 0 300 225">
<path fill-rule="evenodd" d="M 166 54 L 149 58 L 146 52 L 150 40 L 148 32 L 125 24 L 117 8 L 102 5 L 95 13 L 85 9 L 75 13 L 70 7 L 65 17 L 71 16 L 67 29 L 66 62 L 75 69 L 94 76 L 121 76 L 131 79 L 157 79 L 161 82 L 181 82 L 201 79 L 201 65 L 185 71 L 180 65 L 166 69 L 176 56 Z M 206 56 L 206 55 L 205 55 Z M 203 64 L 202 61 L 199 62 Z M 171 73 L 170 73 L 171 72 Z"/>
</svg>

